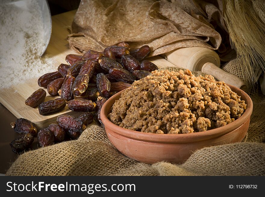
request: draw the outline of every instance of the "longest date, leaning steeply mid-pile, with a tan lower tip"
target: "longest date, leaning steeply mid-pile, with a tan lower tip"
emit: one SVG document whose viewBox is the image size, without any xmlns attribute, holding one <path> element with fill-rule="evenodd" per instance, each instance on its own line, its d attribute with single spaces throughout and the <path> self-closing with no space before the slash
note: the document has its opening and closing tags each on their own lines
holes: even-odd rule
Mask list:
<svg viewBox="0 0 265 197">
<path fill-rule="evenodd" d="M 72 92 L 74 95 L 79 96 L 86 92 L 89 79 L 92 78 L 95 71 L 95 63 L 94 60 L 89 59 L 81 67 L 80 72 L 73 83 Z"/>
</svg>

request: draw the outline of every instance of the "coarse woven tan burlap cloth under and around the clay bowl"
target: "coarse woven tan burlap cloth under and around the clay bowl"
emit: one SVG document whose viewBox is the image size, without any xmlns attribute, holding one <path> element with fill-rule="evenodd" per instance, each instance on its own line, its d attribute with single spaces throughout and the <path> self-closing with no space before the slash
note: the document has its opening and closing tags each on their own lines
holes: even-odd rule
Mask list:
<svg viewBox="0 0 265 197">
<path fill-rule="evenodd" d="M 234 63 L 226 64 L 224 70 L 233 73 Z M 265 99 L 257 92 L 250 96 L 254 107 L 244 142 L 197 150 L 181 165 L 150 165 L 127 158 L 111 145 L 104 128 L 90 125 L 77 140 L 23 153 L 6 175 L 264 176 L 265 144 L 261 142 L 265 142 Z"/>
</svg>

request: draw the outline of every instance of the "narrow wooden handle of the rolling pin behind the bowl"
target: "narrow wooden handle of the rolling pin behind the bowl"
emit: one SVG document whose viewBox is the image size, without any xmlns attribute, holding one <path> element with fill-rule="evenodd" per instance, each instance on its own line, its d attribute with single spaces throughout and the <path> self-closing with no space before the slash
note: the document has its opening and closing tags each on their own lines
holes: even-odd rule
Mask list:
<svg viewBox="0 0 265 197">
<path fill-rule="evenodd" d="M 217 81 L 225 81 L 227 84 L 240 88 L 243 91 L 247 90 L 245 82 L 239 77 L 227 73 L 213 63 L 205 63 L 201 68 L 201 72 L 214 76 Z"/>
</svg>

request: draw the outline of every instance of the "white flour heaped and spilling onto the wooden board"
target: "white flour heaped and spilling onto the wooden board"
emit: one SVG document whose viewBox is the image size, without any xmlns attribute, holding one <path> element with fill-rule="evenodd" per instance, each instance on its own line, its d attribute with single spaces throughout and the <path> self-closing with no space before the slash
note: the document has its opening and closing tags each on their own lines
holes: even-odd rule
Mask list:
<svg viewBox="0 0 265 197">
<path fill-rule="evenodd" d="M 26 5 L 0 4 L 0 89 L 55 71 L 53 58 L 39 57 L 45 47 L 39 5 Z"/>
</svg>

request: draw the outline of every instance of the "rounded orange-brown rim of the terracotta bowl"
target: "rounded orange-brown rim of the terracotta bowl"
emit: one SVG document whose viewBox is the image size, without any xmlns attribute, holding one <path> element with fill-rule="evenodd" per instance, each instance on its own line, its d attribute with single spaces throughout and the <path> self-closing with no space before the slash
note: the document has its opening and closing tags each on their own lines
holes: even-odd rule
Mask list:
<svg viewBox="0 0 265 197">
<path fill-rule="evenodd" d="M 158 143 L 189 143 L 189 142 L 200 142 L 205 141 L 209 139 L 213 139 L 222 135 L 225 135 L 226 133 L 229 133 L 239 127 L 241 127 L 251 116 L 252 110 L 253 110 L 253 102 L 249 95 L 242 91 L 241 89 L 227 84 L 233 92 L 240 92 L 241 98 L 245 100 L 247 103 L 247 108 L 245 112 L 235 121 L 232 123 L 229 123 L 223 127 L 203 131 L 203 132 L 196 132 L 196 133 L 182 133 L 182 134 L 157 134 L 157 133 L 144 133 L 139 131 L 134 131 L 130 129 L 126 129 L 123 127 L 120 127 L 114 123 L 112 123 L 108 119 L 107 111 L 109 110 L 107 107 L 110 105 L 111 102 L 115 99 L 120 97 L 120 94 L 124 91 L 120 91 L 117 94 L 113 95 L 111 98 L 109 98 L 104 105 L 102 106 L 100 115 L 101 120 L 105 126 L 105 128 L 112 130 L 115 133 L 118 133 L 122 136 L 125 136 L 130 139 L 135 139 L 138 141 L 145 141 L 145 142 L 158 142 Z M 114 102 L 115 102 L 114 101 Z M 110 106 L 111 107 L 111 106 Z M 107 130 L 106 130 L 107 131 Z"/>
</svg>

